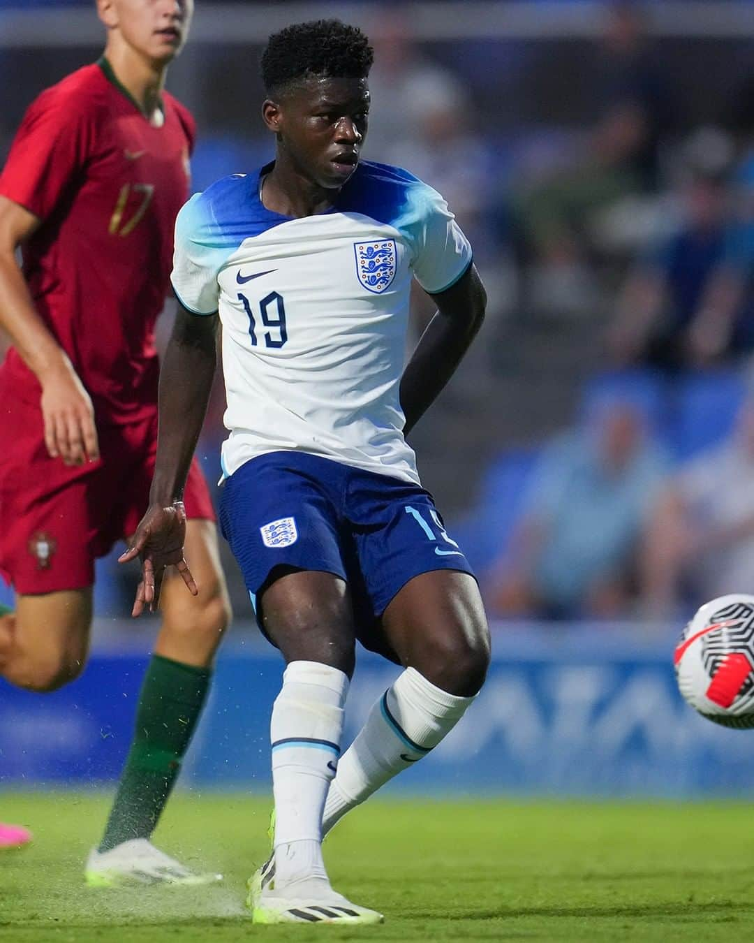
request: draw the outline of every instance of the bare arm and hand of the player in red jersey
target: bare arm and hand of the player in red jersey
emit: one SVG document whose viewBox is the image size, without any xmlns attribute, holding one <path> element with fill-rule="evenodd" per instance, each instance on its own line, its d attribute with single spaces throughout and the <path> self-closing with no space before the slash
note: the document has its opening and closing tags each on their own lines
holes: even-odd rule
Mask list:
<svg viewBox="0 0 754 943">
<path fill-rule="evenodd" d="M 15 256 L 40 223 L 33 213 L 0 196 L 0 326 L 40 381 L 47 451 L 66 465 L 81 465 L 99 457 L 90 396 L 35 310 Z"/>
</svg>

